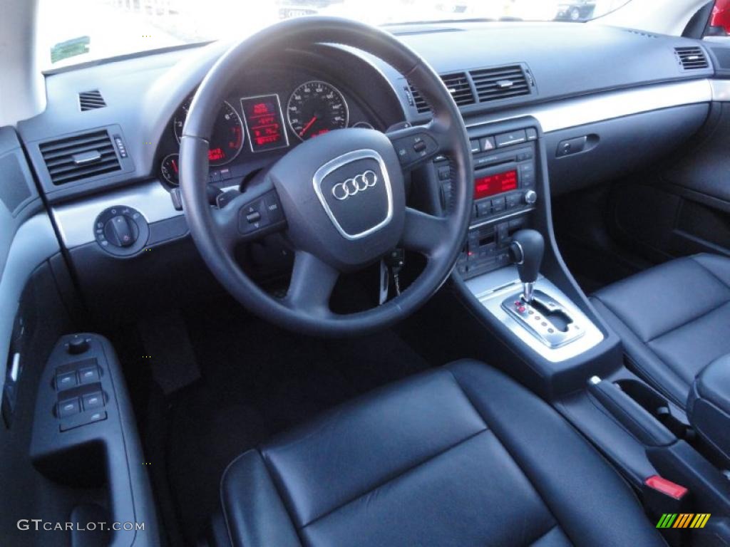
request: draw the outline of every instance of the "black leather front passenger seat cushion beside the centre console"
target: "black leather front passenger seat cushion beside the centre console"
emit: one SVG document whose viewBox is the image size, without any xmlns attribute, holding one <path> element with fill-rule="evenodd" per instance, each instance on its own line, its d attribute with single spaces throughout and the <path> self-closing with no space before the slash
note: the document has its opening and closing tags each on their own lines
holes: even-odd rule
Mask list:
<svg viewBox="0 0 730 547">
<path fill-rule="evenodd" d="M 672 260 L 596 292 L 640 376 L 684 408 L 695 376 L 730 353 L 730 259 Z"/>
</svg>

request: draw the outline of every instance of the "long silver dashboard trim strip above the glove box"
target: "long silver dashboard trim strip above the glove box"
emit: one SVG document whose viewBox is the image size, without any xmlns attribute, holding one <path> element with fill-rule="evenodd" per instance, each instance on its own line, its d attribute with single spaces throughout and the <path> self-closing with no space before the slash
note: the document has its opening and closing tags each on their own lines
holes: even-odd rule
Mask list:
<svg viewBox="0 0 730 547">
<path fill-rule="evenodd" d="M 718 82 L 718 85 L 715 86 L 718 88 L 717 92 L 715 92 L 712 82 Z M 719 82 L 723 82 L 724 85 L 720 85 Z M 723 89 L 728 91 L 722 93 Z M 684 104 L 709 103 L 712 100 L 730 101 L 730 81 L 692 79 L 685 82 L 596 93 L 585 97 L 569 98 L 500 112 L 478 122 L 466 124 L 466 127 L 475 128 L 480 125 L 511 120 L 515 117 L 533 116 L 539 121 L 542 131 L 550 133 L 587 123 L 602 122 Z"/>
</svg>

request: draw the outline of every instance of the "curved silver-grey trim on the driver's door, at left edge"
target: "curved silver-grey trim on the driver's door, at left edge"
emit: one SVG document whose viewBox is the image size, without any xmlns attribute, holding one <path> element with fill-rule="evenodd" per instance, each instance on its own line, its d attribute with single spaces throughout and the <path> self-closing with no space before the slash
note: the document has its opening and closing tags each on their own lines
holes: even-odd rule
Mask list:
<svg viewBox="0 0 730 547">
<path fill-rule="evenodd" d="M 39 264 L 60 250 L 53 225 L 45 213 L 29 218 L 15 232 L 5 268 L 0 274 L 0 302 L 3 306 L 0 314 L 0 355 L 8 354 L 15 313 L 28 279 Z M 0 362 L 0 393 L 5 383 L 6 366 L 3 358 Z"/>
</svg>

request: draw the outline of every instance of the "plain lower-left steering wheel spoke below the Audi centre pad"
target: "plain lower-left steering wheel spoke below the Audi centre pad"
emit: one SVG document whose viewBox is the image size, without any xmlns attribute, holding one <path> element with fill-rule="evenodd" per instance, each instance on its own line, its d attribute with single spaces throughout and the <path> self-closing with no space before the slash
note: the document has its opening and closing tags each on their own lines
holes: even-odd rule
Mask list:
<svg viewBox="0 0 730 547">
<path fill-rule="evenodd" d="M 298 250 L 294 255 L 294 268 L 284 302 L 295 311 L 317 316 L 331 315 L 329 298 L 337 279 L 337 269 L 309 252 Z"/>
</svg>

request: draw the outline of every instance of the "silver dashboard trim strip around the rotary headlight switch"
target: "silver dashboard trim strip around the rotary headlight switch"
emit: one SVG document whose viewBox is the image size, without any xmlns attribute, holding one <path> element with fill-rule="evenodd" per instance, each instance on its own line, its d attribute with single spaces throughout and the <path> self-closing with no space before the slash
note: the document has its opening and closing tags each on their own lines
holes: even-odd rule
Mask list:
<svg viewBox="0 0 730 547">
<path fill-rule="evenodd" d="M 63 203 L 51 207 L 51 214 L 66 248 L 73 249 L 96 241 L 94 220 L 104 209 L 115 205 L 137 209 L 147 222 L 158 222 L 183 214 L 174 208 L 169 192 L 156 180 L 122 190 L 112 190 L 82 201 Z"/>
</svg>

